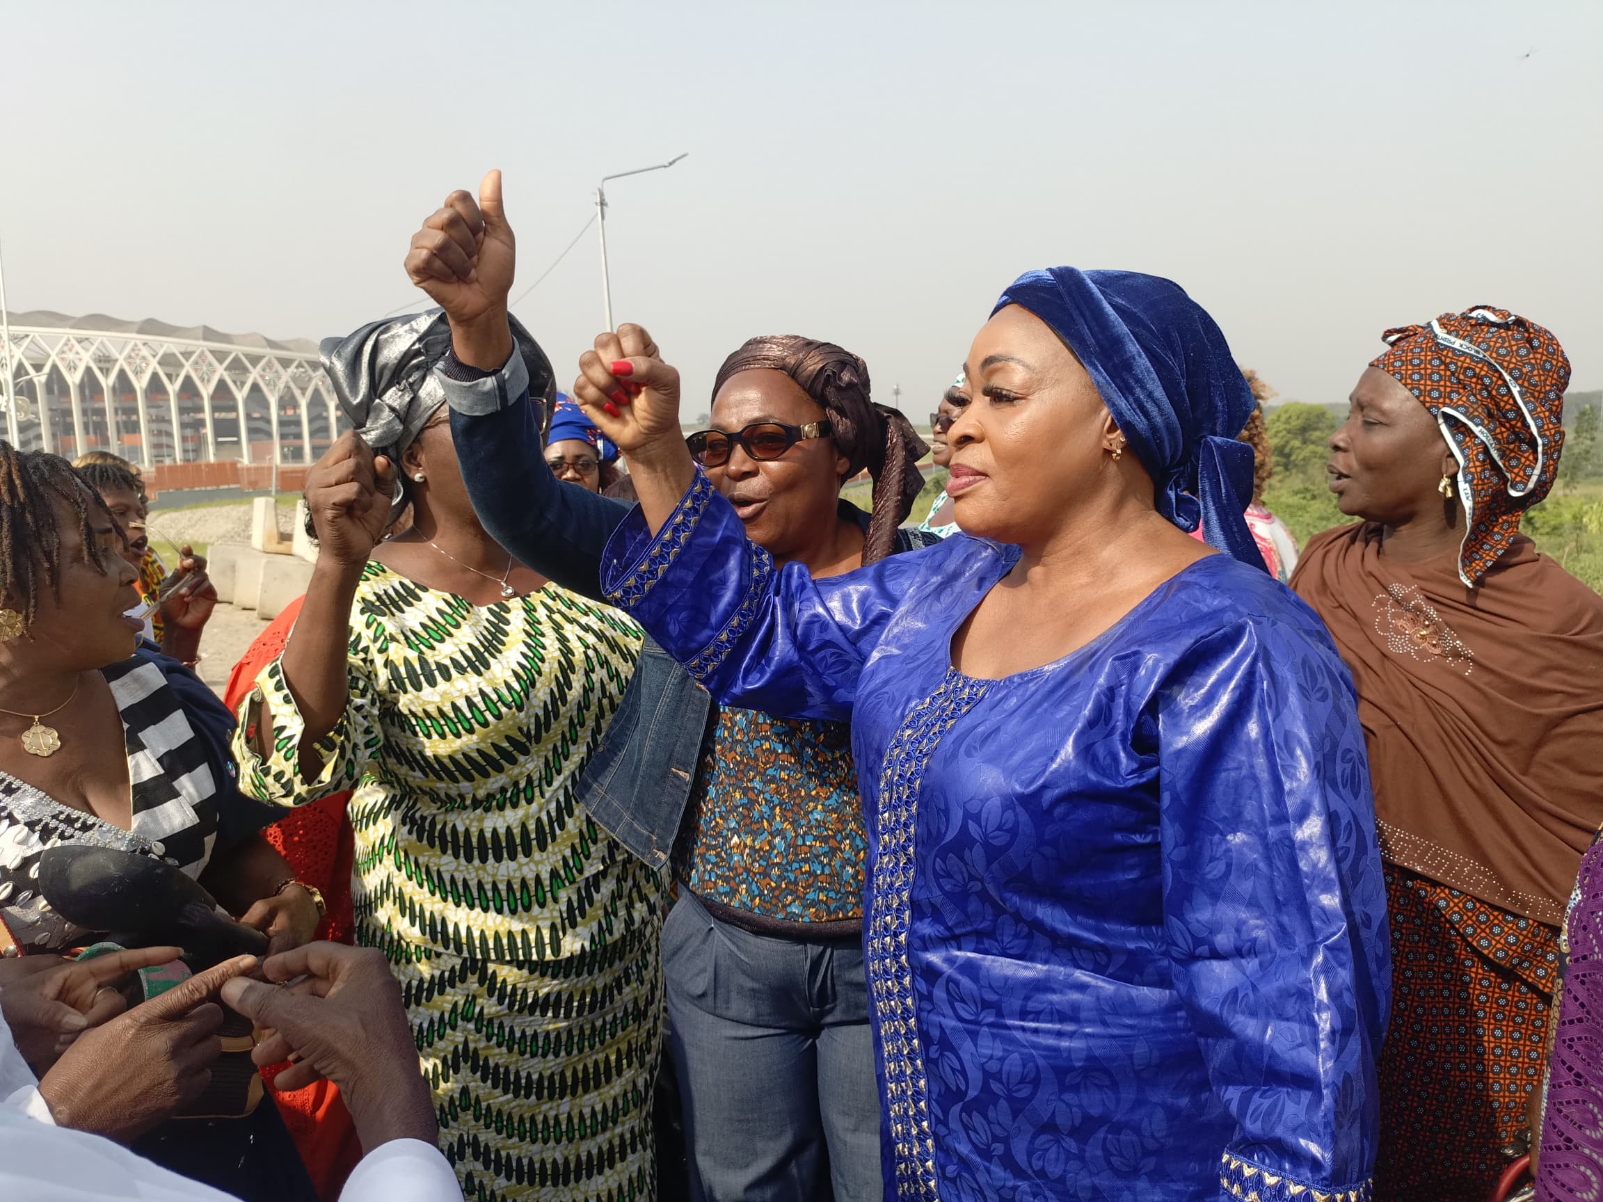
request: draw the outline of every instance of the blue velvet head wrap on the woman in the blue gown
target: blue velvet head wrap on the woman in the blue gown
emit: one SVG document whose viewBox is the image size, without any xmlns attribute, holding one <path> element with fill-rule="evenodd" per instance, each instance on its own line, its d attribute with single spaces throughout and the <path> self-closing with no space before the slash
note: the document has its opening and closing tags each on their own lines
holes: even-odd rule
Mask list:
<svg viewBox="0 0 1603 1202">
<path fill-rule="evenodd" d="M 1133 271 L 1048 268 L 1020 276 L 997 309 L 1018 305 L 1074 351 L 1153 478 L 1157 511 L 1181 530 L 1263 567 L 1242 511 L 1252 447 L 1238 442 L 1252 389 L 1207 311 L 1185 290 Z"/>
</svg>

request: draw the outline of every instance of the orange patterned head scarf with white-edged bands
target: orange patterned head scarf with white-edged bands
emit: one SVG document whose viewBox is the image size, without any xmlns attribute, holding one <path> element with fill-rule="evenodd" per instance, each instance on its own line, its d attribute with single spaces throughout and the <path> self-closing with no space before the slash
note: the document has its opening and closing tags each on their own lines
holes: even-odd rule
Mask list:
<svg viewBox="0 0 1603 1202">
<path fill-rule="evenodd" d="M 1548 330 L 1489 305 L 1383 337 L 1369 365 L 1430 410 L 1459 460 L 1459 579 L 1473 588 L 1520 532 L 1520 514 L 1553 487 L 1569 359 Z"/>
</svg>

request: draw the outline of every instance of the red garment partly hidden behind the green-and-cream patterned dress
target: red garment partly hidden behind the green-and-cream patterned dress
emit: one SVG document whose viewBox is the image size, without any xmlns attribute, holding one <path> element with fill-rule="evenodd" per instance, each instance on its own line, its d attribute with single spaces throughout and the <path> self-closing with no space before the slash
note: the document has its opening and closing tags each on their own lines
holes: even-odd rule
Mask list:
<svg viewBox="0 0 1603 1202">
<path fill-rule="evenodd" d="M 256 673 L 282 654 L 300 607 L 300 599 L 287 606 L 234 665 L 223 699 L 236 715 L 250 694 Z M 316 938 L 341 944 L 353 942 L 351 867 L 356 843 L 351 821 L 345 813 L 349 800 L 349 793 L 333 793 L 300 806 L 261 832 L 289 861 L 297 880 L 322 891 L 329 910 L 317 926 Z M 277 1072 L 277 1067 L 263 1069 L 261 1075 L 271 1083 Z M 340 1101 L 340 1090 L 329 1082 L 319 1082 L 305 1090 L 273 1096 L 284 1114 L 284 1125 L 295 1138 L 295 1148 L 306 1162 L 317 1196 L 324 1202 L 335 1202 L 345 1188 L 345 1180 L 362 1159 L 362 1146 L 356 1138 L 351 1115 Z"/>
</svg>

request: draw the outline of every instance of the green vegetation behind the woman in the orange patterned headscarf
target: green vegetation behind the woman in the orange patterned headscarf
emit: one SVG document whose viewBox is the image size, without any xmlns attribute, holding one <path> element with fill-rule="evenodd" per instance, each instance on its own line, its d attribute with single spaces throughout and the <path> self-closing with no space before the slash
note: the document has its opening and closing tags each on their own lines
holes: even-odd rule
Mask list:
<svg viewBox="0 0 1603 1202">
<path fill-rule="evenodd" d="M 1266 415 L 1274 476 L 1263 503 L 1290 529 L 1298 543 L 1348 521 L 1326 487 L 1326 442 L 1337 417 L 1326 405 L 1290 401 Z M 1544 555 L 1603 591 L 1603 447 L 1598 446 L 1598 405 L 1569 413 L 1558 484 L 1532 508 L 1521 527 Z"/>
</svg>

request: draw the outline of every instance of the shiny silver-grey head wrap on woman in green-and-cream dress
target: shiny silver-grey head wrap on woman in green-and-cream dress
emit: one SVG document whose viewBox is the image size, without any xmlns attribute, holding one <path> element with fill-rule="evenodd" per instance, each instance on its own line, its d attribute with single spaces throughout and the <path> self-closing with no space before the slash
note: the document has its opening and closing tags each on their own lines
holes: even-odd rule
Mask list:
<svg viewBox="0 0 1603 1202">
<path fill-rule="evenodd" d="M 551 361 L 516 317 L 511 337 L 529 369 L 531 401 L 545 401 L 551 412 L 556 377 Z M 446 389 L 434 367 L 450 349 L 450 322 L 444 309 L 369 322 L 345 338 L 324 338 L 317 349 L 329 372 L 340 409 L 356 433 L 396 465 L 396 497 L 391 518 L 406 503 L 401 489 L 401 455 L 417 441 L 430 418 L 446 404 Z M 547 417 L 547 422 L 550 417 Z"/>
</svg>

